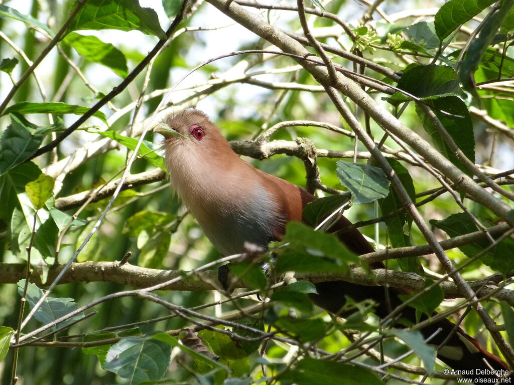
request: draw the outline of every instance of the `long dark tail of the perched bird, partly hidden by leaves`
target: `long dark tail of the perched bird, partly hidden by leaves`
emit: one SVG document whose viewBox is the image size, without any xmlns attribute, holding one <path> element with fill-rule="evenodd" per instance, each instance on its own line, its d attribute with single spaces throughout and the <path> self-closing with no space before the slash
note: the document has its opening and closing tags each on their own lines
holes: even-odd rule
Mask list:
<svg viewBox="0 0 514 385">
<path fill-rule="evenodd" d="M 347 229 L 344 233 L 338 232 L 341 241 L 354 253 L 359 255 L 373 252 L 373 247 L 364 239 L 359 231 L 351 226 L 350 221 L 341 218 L 337 228 Z M 349 229 L 349 230 L 348 230 Z M 384 267 L 377 263 L 372 268 Z M 384 318 L 390 314 L 390 309 L 396 309 L 402 301 L 398 298 L 398 292 L 388 290 L 386 293 L 383 287 L 363 286 L 345 281 L 331 281 L 316 284 L 317 295 L 313 295 L 314 302 L 323 309 L 337 314 L 345 304 L 345 296 L 355 301 L 371 299 L 377 303 L 375 314 Z M 386 301 L 388 296 L 389 305 Z M 406 307 L 402 311 L 401 318 L 407 319 L 413 324 L 416 323 L 415 310 Z M 421 320 L 427 319 L 421 318 Z M 401 327 L 400 325 L 395 325 Z M 455 331 L 455 324 L 445 319 L 431 323 L 420 332 L 425 338 L 433 336 L 430 344 L 435 345 L 437 358 L 443 361 L 451 369 L 459 371 L 463 377 L 474 383 L 494 383 L 498 379 L 497 373 L 505 374 L 510 372 L 508 365 L 499 357 L 486 351 L 480 343 L 470 337 L 461 328 Z M 448 336 L 450 336 L 448 338 Z M 442 345 L 444 343 L 444 345 Z M 487 378 L 487 380 L 486 380 Z"/>
</svg>

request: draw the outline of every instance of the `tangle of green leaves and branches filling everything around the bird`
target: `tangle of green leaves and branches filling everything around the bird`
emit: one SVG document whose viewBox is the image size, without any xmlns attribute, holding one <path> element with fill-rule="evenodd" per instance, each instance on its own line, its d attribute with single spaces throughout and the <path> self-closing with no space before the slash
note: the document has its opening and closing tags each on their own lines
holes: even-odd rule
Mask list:
<svg viewBox="0 0 514 385">
<path fill-rule="evenodd" d="M 514 362 L 514 0 L 0 3 L 2 384 L 454 380 L 374 303 L 313 306 L 334 277 L 408 290 Z M 313 226 L 344 210 L 377 252 L 291 223 L 222 260 L 152 132 L 196 106 L 322 197 Z"/>
</svg>

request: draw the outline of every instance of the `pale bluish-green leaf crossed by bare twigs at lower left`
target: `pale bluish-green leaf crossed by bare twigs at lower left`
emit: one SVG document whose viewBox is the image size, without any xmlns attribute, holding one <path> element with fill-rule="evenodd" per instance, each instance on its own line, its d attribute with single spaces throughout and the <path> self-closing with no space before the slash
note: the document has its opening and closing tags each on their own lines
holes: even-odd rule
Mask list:
<svg viewBox="0 0 514 385">
<path fill-rule="evenodd" d="M 20 294 L 20 296 L 23 296 L 25 279 L 18 281 L 17 285 L 18 293 Z M 30 309 L 34 307 L 36 302 L 38 302 L 42 296 L 43 291 L 38 286 L 29 282 L 27 286 L 26 298 L 28 303 L 30 304 Z M 75 300 L 73 298 L 46 297 L 41 306 L 38 307 L 38 310 L 36 310 L 34 318 L 40 322 L 43 322 L 44 324 L 47 324 L 77 309 L 77 303 L 75 303 Z M 67 319 L 66 321 L 60 322 L 57 325 L 52 326 L 52 329 L 55 330 L 61 328 L 61 326 L 74 322 L 77 319 L 82 318 L 83 316 L 83 314 L 73 316 Z"/>
</svg>

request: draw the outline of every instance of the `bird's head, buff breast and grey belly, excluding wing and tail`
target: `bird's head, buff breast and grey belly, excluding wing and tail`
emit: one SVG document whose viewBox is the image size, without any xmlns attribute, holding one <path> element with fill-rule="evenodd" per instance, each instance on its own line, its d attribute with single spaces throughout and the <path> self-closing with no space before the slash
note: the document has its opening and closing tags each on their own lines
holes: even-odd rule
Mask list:
<svg viewBox="0 0 514 385">
<path fill-rule="evenodd" d="M 165 136 L 171 184 L 218 251 L 242 253 L 245 242 L 267 246 L 283 221 L 260 171 L 240 159 L 200 111 L 179 113 L 164 124 L 156 132 Z"/>
</svg>

